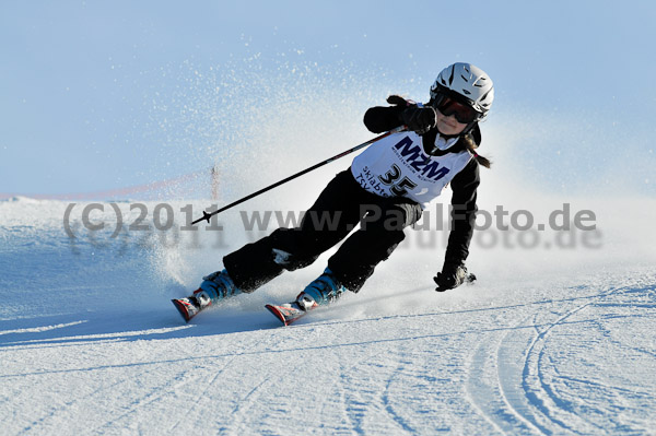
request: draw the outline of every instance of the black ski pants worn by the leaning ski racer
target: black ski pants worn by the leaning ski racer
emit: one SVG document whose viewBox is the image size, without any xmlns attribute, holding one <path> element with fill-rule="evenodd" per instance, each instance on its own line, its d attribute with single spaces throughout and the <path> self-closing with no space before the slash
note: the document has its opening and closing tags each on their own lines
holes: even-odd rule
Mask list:
<svg viewBox="0 0 656 436">
<path fill-rule="evenodd" d="M 223 264 L 243 292 L 253 292 L 283 271 L 313 263 L 319 255 L 355 231 L 328 260 L 328 268 L 350 291 L 358 292 L 374 268 L 403 240 L 403 228 L 421 217 L 422 209 L 405 197 L 379 197 L 363 189 L 350 169 L 324 189 L 296 228 L 271 235 L 225 256 Z M 291 256 L 274 261 L 273 249 Z"/>
</svg>

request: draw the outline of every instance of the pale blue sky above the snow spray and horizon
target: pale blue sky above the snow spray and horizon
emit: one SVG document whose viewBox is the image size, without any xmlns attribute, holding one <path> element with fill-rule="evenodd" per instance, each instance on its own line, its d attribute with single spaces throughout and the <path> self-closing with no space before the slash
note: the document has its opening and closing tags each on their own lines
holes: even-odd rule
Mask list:
<svg viewBox="0 0 656 436">
<path fill-rule="evenodd" d="M 490 123 L 535 123 L 531 142 L 570 151 L 516 153 L 534 170 L 569 168 L 583 144 L 605 155 L 588 172 L 617 155 L 653 193 L 654 22 L 649 1 L 2 2 L 0 192 L 176 177 L 256 130 L 260 103 L 312 102 L 315 86 L 356 101 L 355 123 L 385 93 L 426 98 L 443 67 L 469 61 L 495 82 Z"/>
</svg>

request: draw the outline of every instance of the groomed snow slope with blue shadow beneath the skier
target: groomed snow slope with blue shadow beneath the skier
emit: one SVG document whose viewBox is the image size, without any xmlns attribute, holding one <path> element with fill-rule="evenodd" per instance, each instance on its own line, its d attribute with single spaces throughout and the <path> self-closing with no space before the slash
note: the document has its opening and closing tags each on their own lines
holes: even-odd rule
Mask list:
<svg viewBox="0 0 656 436">
<path fill-rule="evenodd" d="M 540 219 L 562 205 L 538 200 Z M 114 203 L 126 226 L 133 203 Z M 360 294 L 288 328 L 263 304 L 325 257 L 185 325 L 168 299 L 257 234 L 235 211 L 231 232 L 114 235 L 110 203 L 92 232 L 90 204 L 65 226 L 67 202 L 0 201 L 4 435 L 656 434 L 656 257 L 649 217 L 625 224 L 636 201 L 572 202 L 596 213 L 593 248 L 475 240 L 478 282 L 443 294 L 441 233 L 411 232 Z M 161 203 L 143 204 L 152 227 Z M 175 229 L 186 203 L 171 205 Z"/>
</svg>

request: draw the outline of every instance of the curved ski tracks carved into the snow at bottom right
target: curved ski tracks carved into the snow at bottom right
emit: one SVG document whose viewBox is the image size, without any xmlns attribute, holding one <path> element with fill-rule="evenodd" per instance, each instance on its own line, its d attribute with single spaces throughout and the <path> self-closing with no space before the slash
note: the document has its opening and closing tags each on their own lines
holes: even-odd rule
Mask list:
<svg viewBox="0 0 656 436">
<path fill-rule="evenodd" d="M 470 399 L 499 433 L 519 432 L 522 434 L 547 435 L 606 433 L 609 429 L 608 425 L 596 423 L 593 420 L 586 419 L 585 414 L 576 413 L 578 412 L 576 410 L 577 404 L 572 400 L 563 398 L 564 396 L 559 396 L 559 387 L 555 387 L 551 380 L 565 381 L 564 386 L 570 389 L 574 388 L 574 385 L 581 384 L 588 388 L 594 387 L 599 390 L 622 392 L 628 396 L 637 392 L 618 386 L 599 384 L 583 378 L 573 379 L 560 375 L 557 366 L 558 361 L 547 352 L 547 342 L 554 331 L 569 322 L 570 318 L 584 313 L 588 307 L 617 306 L 614 303 L 604 303 L 614 294 L 646 294 L 648 292 L 653 293 L 654 287 L 616 287 L 608 292 L 586 297 L 585 303 L 574 304 L 571 309 L 553 321 L 543 322 L 540 318 L 547 313 L 535 313 L 526 317 L 515 328 L 508 329 L 501 340 L 495 342 L 481 341 L 472 355 L 471 377 L 467 385 Z M 576 299 L 571 298 L 569 303 L 576 303 Z M 636 305 L 631 304 L 629 306 L 636 307 Z M 637 307 L 653 309 L 654 305 L 637 305 Z M 586 319 L 571 322 L 590 325 L 597 321 L 595 319 Z M 531 329 L 532 332 L 530 331 Z M 496 358 L 493 365 L 490 366 L 495 368 L 496 382 L 491 386 L 481 382 L 479 377 L 481 374 L 489 373 L 485 369 L 490 368 L 487 368 L 485 365 L 490 361 L 490 355 L 494 352 L 494 347 L 491 346 L 492 343 L 496 343 Z M 628 346 L 623 342 L 616 343 L 622 347 Z M 629 347 L 654 357 L 652 351 L 645 351 L 635 346 Z M 518 360 L 518 356 L 523 356 L 522 360 Z M 651 393 L 643 391 L 640 394 L 648 398 L 653 394 L 653 391 Z M 488 401 L 488 399 L 494 397 L 500 398 L 501 401 Z M 610 411 L 600 411 L 600 414 L 612 416 Z M 636 431 L 635 428 L 625 427 L 620 422 L 610 421 L 612 427 L 617 431 L 630 433 Z M 642 428 L 642 431 L 647 431 L 647 427 Z"/>
</svg>

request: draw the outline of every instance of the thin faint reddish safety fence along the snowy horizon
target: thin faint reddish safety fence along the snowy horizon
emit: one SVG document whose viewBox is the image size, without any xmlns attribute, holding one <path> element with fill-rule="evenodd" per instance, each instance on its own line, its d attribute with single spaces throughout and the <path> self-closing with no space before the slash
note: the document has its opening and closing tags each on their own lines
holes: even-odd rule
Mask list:
<svg viewBox="0 0 656 436">
<path fill-rule="evenodd" d="M 169 178 L 166 180 L 159 180 L 159 181 L 153 181 L 151 184 L 129 186 L 129 187 L 125 187 L 125 188 L 110 189 L 110 190 L 106 190 L 106 191 L 55 193 L 55 195 L 0 192 L 0 200 L 10 199 L 10 198 L 14 198 L 14 197 L 26 197 L 26 198 L 31 198 L 31 199 L 35 199 L 35 200 L 69 200 L 69 201 L 71 201 L 71 200 L 82 201 L 82 200 L 127 198 L 134 193 L 157 191 L 157 190 L 165 189 L 168 187 L 174 187 L 176 185 L 181 185 L 187 181 L 196 180 L 196 179 L 198 179 L 199 176 L 203 176 L 203 175 L 208 175 L 208 174 L 211 175 L 212 198 L 215 198 L 218 196 L 219 172 L 216 170 L 215 167 L 210 167 L 210 168 L 206 168 L 202 170 L 185 174 L 179 177 Z"/>
</svg>

